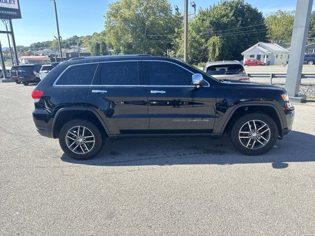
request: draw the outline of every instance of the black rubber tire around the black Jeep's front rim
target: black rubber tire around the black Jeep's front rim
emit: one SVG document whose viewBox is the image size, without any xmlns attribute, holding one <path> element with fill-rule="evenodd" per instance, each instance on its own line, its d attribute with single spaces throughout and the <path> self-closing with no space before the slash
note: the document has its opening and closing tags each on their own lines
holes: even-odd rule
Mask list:
<svg viewBox="0 0 315 236">
<path fill-rule="evenodd" d="M 258 149 L 251 149 L 251 146 L 249 146 L 249 148 L 245 147 L 241 143 L 241 141 L 240 141 L 241 138 L 239 137 L 239 132 L 241 131 L 241 128 L 244 127 L 245 124 L 248 124 L 248 122 L 252 121 L 252 120 L 256 120 L 256 122 L 257 122 L 257 120 L 262 121 L 265 124 L 267 124 L 269 129 L 270 129 L 270 131 L 268 131 L 268 132 L 270 132 L 269 133 L 269 141 L 267 143 L 265 143 L 265 146 L 262 146 L 257 142 L 256 144 L 261 146 L 261 148 L 258 148 Z M 251 124 L 251 125 L 253 126 L 253 124 Z M 250 125 L 250 127 L 251 127 L 251 125 Z M 248 134 L 248 135 L 250 136 L 252 134 Z M 256 134 L 254 137 L 256 137 Z M 268 115 L 266 115 L 264 113 L 249 113 L 249 114 L 246 114 L 246 115 L 238 118 L 236 120 L 236 122 L 234 123 L 232 130 L 231 130 L 231 134 L 230 134 L 231 143 L 233 144 L 234 148 L 237 149 L 239 152 L 241 152 L 245 155 L 249 155 L 249 156 L 261 155 L 261 154 L 264 154 L 264 153 L 270 151 L 270 149 L 275 146 L 275 144 L 277 142 L 277 138 L 278 138 L 278 127 L 277 127 L 276 122 L 271 117 L 269 117 Z M 242 141 L 245 141 L 245 140 L 246 139 L 242 139 Z M 250 139 L 247 139 L 247 140 L 250 141 Z M 253 144 L 253 141 L 255 141 L 255 138 L 252 138 L 252 144 Z M 260 141 L 263 141 L 263 140 L 260 139 Z M 263 143 L 264 142 L 265 141 L 263 141 Z M 253 144 L 253 146 L 254 145 L 255 144 Z"/>
</svg>

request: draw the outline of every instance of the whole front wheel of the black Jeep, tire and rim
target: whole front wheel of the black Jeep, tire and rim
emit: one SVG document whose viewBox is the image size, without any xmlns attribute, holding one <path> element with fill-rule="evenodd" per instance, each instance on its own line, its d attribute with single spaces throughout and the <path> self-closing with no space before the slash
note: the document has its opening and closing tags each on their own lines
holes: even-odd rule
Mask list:
<svg viewBox="0 0 315 236">
<path fill-rule="evenodd" d="M 276 122 L 263 113 L 250 113 L 239 118 L 231 130 L 231 143 L 245 155 L 268 152 L 277 142 Z"/>
</svg>

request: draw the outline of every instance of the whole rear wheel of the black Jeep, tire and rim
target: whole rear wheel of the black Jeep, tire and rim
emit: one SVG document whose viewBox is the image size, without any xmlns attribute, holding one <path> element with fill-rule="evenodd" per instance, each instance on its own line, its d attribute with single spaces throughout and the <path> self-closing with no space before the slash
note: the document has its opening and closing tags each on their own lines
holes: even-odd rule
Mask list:
<svg viewBox="0 0 315 236">
<path fill-rule="evenodd" d="M 102 135 L 90 121 L 74 119 L 65 123 L 59 134 L 64 153 L 76 160 L 93 158 L 102 147 Z"/>
</svg>

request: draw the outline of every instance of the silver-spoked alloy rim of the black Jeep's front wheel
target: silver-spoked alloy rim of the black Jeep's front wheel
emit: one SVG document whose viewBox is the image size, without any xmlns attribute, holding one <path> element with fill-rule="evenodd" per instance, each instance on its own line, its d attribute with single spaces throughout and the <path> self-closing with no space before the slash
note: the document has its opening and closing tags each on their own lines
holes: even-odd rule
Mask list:
<svg viewBox="0 0 315 236">
<path fill-rule="evenodd" d="M 245 148 L 256 150 L 268 144 L 270 134 L 270 128 L 265 122 L 254 119 L 242 126 L 238 137 Z"/>
</svg>

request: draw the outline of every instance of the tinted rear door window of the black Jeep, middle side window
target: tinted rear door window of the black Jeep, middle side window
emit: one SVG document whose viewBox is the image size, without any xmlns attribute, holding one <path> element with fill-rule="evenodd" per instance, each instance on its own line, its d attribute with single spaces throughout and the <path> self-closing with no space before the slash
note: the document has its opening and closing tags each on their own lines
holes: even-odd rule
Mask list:
<svg viewBox="0 0 315 236">
<path fill-rule="evenodd" d="M 139 85 L 138 62 L 103 63 L 100 79 L 101 85 Z"/>
</svg>

